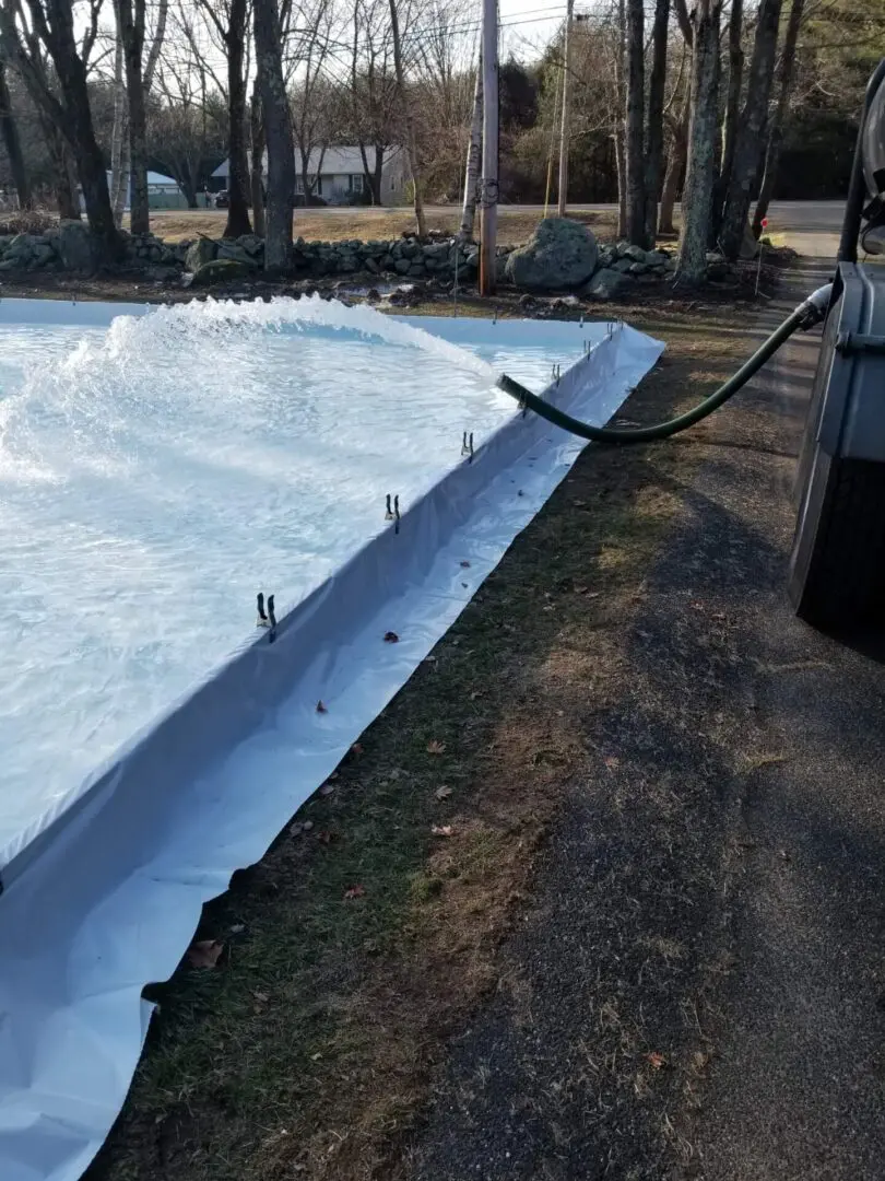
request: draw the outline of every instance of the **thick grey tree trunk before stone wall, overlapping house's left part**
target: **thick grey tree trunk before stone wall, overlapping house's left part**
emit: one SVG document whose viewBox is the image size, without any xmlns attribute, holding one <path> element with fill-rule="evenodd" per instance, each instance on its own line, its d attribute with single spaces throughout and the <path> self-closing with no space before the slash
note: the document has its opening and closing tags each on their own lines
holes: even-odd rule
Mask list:
<svg viewBox="0 0 885 1181">
<path fill-rule="evenodd" d="M 238 2 L 238 0 L 237 0 Z M 255 68 L 268 142 L 264 269 L 289 266 L 295 202 L 295 148 L 283 77 L 280 13 L 276 0 L 253 0 Z"/>
</svg>

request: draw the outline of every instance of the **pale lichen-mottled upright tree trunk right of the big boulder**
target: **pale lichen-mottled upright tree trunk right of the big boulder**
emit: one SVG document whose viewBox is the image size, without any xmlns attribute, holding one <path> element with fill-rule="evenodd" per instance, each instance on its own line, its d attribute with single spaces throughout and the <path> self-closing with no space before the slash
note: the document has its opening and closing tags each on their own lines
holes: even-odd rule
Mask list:
<svg viewBox="0 0 885 1181">
<path fill-rule="evenodd" d="M 699 0 L 691 13 L 691 116 L 676 269 L 676 278 L 689 283 L 700 282 L 707 272 L 716 169 L 720 18 L 721 0 Z"/>
</svg>

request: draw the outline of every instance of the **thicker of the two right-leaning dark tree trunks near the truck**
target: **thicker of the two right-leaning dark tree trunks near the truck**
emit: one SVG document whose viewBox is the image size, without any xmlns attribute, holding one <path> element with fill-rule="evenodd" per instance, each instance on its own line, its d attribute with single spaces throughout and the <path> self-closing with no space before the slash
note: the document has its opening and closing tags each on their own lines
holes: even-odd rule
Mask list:
<svg viewBox="0 0 885 1181">
<path fill-rule="evenodd" d="M 768 115 L 781 0 L 761 0 L 753 43 L 753 59 L 747 77 L 747 99 L 741 111 L 734 150 L 734 168 L 728 184 L 720 241 L 728 259 L 736 259 L 747 231 L 752 187 L 763 150 L 762 129 Z"/>
</svg>

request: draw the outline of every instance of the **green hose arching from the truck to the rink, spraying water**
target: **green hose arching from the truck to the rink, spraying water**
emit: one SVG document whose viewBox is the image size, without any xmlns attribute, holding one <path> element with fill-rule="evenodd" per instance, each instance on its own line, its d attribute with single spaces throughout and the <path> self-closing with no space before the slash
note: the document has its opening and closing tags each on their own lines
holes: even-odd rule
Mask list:
<svg viewBox="0 0 885 1181">
<path fill-rule="evenodd" d="M 714 410 L 719 410 L 723 403 L 728 402 L 733 394 L 738 393 L 759 372 L 768 358 L 780 348 L 785 340 L 793 335 L 796 328 L 811 328 L 824 319 L 830 306 L 832 292 L 832 283 L 827 283 L 826 287 L 819 287 L 818 291 L 799 305 L 795 312 L 787 317 L 779 328 L 775 328 L 749 360 L 745 361 L 738 372 L 733 377 L 729 377 L 725 385 L 721 385 L 709 398 L 704 398 L 703 402 L 700 402 L 691 410 L 687 410 L 684 415 L 677 415 L 676 418 L 670 418 L 666 423 L 657 423 L 654 426 L 637 426 L 627 430 L 615 426 L 590 426 L 589 423 L 582 423 L 579 419 L 572 418 L 571 415 L 566 415 L 563 410 L 551 406 L 543 398 L 532 393 L 531 390 L 526 390 L 524 385 L 514 381 L 506 373 L 502 373 L 497 384 L 505 393 L 516 398 L 523 407 L 533 410 L 536 415 L 546 418 L 555 426 L 562 426 L 563 430 L 571 431 L 572 435 L 577 435 L 581 438 L 591 439 L 594 443 L 615 443 L 620 445 L 624 443 L 655 443 L 658 439 L 669 438 L 670 435 L 676 435 L 678 431 L 684 431 L 689 426 L 694 426 L 695 423 L 700 423 L 707 415 L 712 415 Z"/>
</svg>

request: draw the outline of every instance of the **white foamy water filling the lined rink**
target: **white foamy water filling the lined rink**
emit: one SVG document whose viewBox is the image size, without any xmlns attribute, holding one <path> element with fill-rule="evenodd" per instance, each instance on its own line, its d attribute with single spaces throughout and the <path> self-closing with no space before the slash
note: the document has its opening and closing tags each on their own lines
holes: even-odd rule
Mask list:
<svg viewBox="0 0 885 1181">
<path fill-rule="evenodd" d="M 563 355 L 471 348 L 320 299 L 0 327 L 0 849 Z"/>
</svg>

